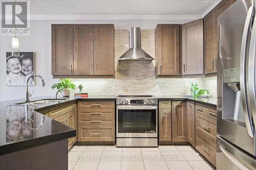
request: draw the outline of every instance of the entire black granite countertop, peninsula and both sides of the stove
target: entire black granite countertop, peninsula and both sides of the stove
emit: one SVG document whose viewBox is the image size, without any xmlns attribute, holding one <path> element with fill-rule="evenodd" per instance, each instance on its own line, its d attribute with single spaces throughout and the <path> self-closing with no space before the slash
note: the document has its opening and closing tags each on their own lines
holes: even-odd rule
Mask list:
<svg viewBox="0 0 256 170">
<path fill-rule="evenodd" d="M 162 95 L 156 97 L 158 100 L 189 100 L 212 107 L 217 106 L 217 100 L 215 98 L 195 99 L 185 98 L 181 95 Z M 25 99 L 0 102 L 0 155 L 33 148 L 76 135 L 74 129 L 44 116 L 35 110 L 78 100 L 116 100 L 116 98 L 116 95 L 97 95 L 89 96 L 88 98 L 74 98 L 71 96 L 68 98 L 58 98 L 62 100 L 55 103 L 32 103 L 30 105 L 25 103 Z M 55 96 L 40 96 L 31 98 L 30 101 L 45 99 L 56 98 Z M 44 124 L 36 129 L 41 124 L 42 118 L 44 118 Z"/>
</svg>

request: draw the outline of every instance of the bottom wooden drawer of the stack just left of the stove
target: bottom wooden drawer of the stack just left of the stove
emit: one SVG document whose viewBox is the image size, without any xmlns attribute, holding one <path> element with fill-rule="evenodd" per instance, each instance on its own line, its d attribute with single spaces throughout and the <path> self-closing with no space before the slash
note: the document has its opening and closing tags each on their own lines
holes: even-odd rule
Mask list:
<svg viewBox="0 0 256 170">
<path fill-rule="evenodd" d="M 115 141 L 115 125 L 78 125 L 78 141 Z"/>
</svg>

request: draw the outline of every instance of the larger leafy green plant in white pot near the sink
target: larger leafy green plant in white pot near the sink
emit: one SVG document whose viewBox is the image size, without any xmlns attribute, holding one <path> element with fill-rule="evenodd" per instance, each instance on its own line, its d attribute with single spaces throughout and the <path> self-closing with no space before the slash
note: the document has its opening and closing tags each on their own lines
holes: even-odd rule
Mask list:
<svg viewBox="0 0 256 170">
<path fill-rule="evenodd" d="M 56 97 L 59 92 L 61 92 L 63 97 L 67 97 L 70 95 L 70 90 L 75 89 L 75 85 L 70 79 L 60 79 L 59 83 L 56 83 L 52 86 L 52 89 L 58 89 L 56 92 Z"/>
</svg>

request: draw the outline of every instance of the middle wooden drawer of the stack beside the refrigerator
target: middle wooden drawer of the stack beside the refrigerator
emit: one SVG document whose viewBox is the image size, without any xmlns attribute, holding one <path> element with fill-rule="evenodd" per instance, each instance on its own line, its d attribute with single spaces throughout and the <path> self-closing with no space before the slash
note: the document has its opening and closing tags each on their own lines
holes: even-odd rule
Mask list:
<svg viewBox="0 0 256 170">
<path fill-rule="evenodd" d="M 212 141 L 216 141 L 217 120 L 201 113 L 196 113 L 196 130 Z"/>
</svg>

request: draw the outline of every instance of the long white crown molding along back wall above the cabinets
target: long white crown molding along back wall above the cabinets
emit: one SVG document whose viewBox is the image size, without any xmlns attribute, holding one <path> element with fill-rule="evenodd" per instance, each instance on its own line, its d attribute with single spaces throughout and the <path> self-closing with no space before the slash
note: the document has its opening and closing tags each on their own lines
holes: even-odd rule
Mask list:
<svg viewBox="0 0 256 170">
<path fill-rule="evenodd" d="M 201 15 L 30 15 L 30 20 L 195 20 Z"/>
</svg>

